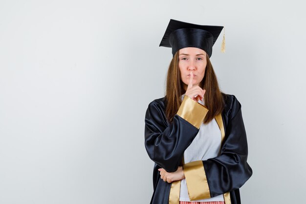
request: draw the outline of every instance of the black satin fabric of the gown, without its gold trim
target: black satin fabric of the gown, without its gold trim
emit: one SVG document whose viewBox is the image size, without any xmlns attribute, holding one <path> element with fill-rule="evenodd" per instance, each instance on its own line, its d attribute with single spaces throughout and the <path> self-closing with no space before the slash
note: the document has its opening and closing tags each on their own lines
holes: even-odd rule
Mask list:
<svg viewBox="0 0 306 204">
<path fill-rule="evenodd" d="M 223 94 L 225 107 L 222 119 L 225 138 L 220 155 L 202 161 L 211 197 L 230 192 L 232 204 L 240 204 L 239 188 L 251 177 L 247 163 L 247 140 L 241 105 L 234 95 Z M 168 204 L 171 183 L 160 179 L 159 168 L 177 170 L 184 151 L 198 133 L 198 129 L 178 115 L 173 123 L 165 116 L 165 98 L 153 100 L 145 116 L 145 147 L 153 167 L 153 196 L 151 204 Z"/>
</svg>

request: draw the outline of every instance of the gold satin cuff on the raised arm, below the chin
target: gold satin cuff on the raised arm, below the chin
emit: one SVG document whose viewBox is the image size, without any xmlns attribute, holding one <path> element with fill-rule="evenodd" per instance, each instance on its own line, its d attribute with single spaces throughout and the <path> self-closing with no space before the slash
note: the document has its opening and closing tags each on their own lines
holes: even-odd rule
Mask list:
<svg viewBox="0 0 306 204">
<path fill-rule="evenodd" d="M 199 129 L 207 112 L 205 106 L 185 95 L 176 114 Z"/>
</svg>

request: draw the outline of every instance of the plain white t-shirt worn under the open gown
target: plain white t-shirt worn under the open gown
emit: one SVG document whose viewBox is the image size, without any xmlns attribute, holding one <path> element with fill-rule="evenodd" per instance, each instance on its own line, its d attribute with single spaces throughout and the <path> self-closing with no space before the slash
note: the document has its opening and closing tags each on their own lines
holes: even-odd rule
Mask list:
<svg viewBox="0 0 306 204">
<path fill-rule="evenodd" d="M 185 94 L 183 94 L 182 100 Z M 204 105 L 204 101 L 198 101 Z M 192 141 L 190 146 L 184 152 L 184 162 L 189 163 L 197 160 L 207 160 L 217 157 L 221 148 L 221 131 L 217 121 L 214 119 L 208 124 L 202 123 L 197 136 Z M 189 201 L 189 195 L 186 185 L 186 179 L 181 180 L 180 186 L 180 201 Z M 224 201 L 223 195 L 219 195 L 209 199 L 201 199 L 193 202 L 212 202 Z"/>
</svg>

